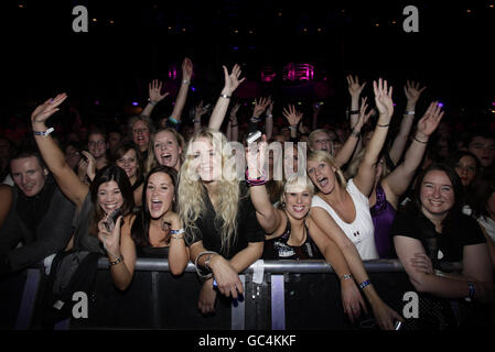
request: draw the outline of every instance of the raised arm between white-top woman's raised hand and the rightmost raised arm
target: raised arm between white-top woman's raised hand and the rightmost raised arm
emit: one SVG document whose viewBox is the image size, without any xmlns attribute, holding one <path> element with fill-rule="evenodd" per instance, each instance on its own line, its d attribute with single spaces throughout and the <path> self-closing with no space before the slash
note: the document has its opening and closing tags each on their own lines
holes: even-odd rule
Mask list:
<svg viewBox="0 0 495 352">
<path fill-rule="evenodd" d="M 418 102 L 418 99 L 423 92 L 423 90 L 427 89 L 427 87 L 422 87 L 421 89 L 419 87 L 420 87 L 419 82 L 415 82 L 413 80 L 409 81 L 409 79 L 407 80 L 406 86 L 403 87 L 403 91 L 407 97 L 406 111 L 403 112 L 403 118 L 402 122 L 400 123 L 399 133 L 394 140 L 390 152 L 388 153 L 390 160 L 394 162 L 395 165 L 397 165 L 397 163 L 399 163 L 400 158 L 402 157 L 402 153 L 409 138 L 409 132 L 411 131 L 411 127 L 415 121 L 416 103 Z"/>
</svg>

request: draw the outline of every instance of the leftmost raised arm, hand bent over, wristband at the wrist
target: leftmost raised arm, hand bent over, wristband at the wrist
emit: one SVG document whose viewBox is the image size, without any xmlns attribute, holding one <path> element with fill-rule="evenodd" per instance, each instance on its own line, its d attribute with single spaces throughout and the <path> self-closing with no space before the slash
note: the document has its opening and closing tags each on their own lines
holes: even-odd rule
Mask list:
<svg viewBox="0 0 495 352">
<path fill-rule="evenodd" d="M 33 132 L 45 132 L 47 130 L 45 121 L 60 110 L 57 107 L 66 98 L 67 95 L 61 94 L 36 107 L 31 114 Z M 46 166 L 55 177 L 58 187 L 77 208 L 80 208 L 89 191 L 89 187 L 83 184 L 76 173 L 67 165 L 64 153 L 62 153 L 58 145 L 56 145 L 50 135 L 44 136 L 35 134 L 34 140 L 36 141 Z"/>
</svg>

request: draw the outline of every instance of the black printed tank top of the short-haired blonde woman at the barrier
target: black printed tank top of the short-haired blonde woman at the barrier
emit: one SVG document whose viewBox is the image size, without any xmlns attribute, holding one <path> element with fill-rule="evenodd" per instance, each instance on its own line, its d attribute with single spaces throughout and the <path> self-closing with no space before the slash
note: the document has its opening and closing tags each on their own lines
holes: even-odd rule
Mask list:
<svg viewBox="0 0 495 352">
<path fill-rule="evenodd" d="M 316 244 L 310 237 L 308 227 L 304 222 L 304 230 L 306 232 L 306 238 L 303 244 L 300 246 L 293 246 L 288 244 L 290 238 L 290 221 L 287 219 L 286 231 L 276 238 L 265 241 L 262 258 L 265 260 L 321 260 L 324 258 L 320 253 Z"/>
</svg>

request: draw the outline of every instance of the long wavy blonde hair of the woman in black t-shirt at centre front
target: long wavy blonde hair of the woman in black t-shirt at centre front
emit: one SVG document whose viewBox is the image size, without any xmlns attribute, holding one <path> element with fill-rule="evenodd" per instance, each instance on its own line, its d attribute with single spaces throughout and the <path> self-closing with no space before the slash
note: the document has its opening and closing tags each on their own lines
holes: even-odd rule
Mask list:
<svg viewBox="0 0 495 352">
<path fill-rule="evenodd" d="M 184 223 L 185 232 L 191 234 L 197 231 L 196 220 L 206 213 L 205 197 L 208 197 L 206 187 L 198 179 L 197 172 L 193 167 L 193 143 L 198 139 L 207 139 L 213 145 L 216 155 L 222 160 L 222 176 L 217 180 L 217 194 L 215 206 L 215 223 L 219 223 L 218 233 L 222 238 L 222 252 L 228 253 L 230 245 L 237 235 L 237 212 L 240 195 L 239 180 L 236 178 L 234 155 L 228 153 L 226 136 L 217 131 L 201 130 L 196 132 L 187 143 L 184 163 L 179 173 L 179 215 Z M 194 239 L 187 239 L 193 241 Z"/>
</svg>

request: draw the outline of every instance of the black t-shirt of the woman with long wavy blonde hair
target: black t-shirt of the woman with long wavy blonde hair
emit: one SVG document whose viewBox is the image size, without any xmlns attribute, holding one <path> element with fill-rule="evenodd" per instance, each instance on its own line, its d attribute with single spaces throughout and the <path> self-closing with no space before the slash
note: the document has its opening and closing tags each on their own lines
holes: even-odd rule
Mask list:
<svg viewBox="0 0 495 352">
<path fill-rule="evenodd" d="M 244 183 L 240 183 L 240 197 L 237 210 L 237 234 L 230 249 L 222 249 L 222 238 L 219 233 L 220 224 L 215 223 L 215 208 L 209 201 L 209 197 L 204 195 L 206 212 L 196 220 L 197 230 L 194 232 L 194 242 L 203 241 L 203 246 L 207 251 L 220 253 L 229 260 L 240 251 L 247 248 L 249 242 L 263 242 L 265 231 L 256 219 L 256 210 L 249 197 L 248 189 Z"/>
</svg>

